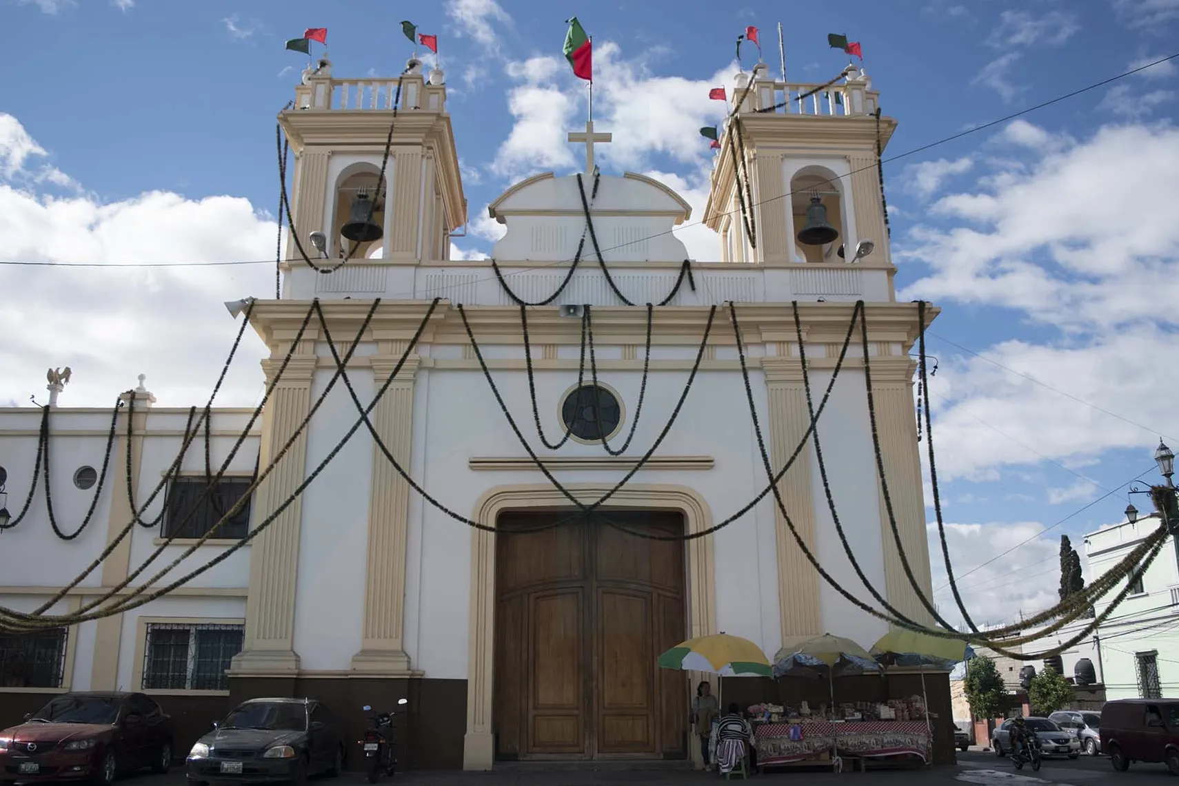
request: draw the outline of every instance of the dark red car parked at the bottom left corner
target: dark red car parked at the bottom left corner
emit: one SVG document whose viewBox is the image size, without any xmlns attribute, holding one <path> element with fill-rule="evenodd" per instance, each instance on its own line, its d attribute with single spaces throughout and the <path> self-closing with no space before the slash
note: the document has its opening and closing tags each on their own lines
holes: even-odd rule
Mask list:
<svg viewBox="0 0 1179 786">
<path fill-rule="evenodd" d="M 87 780 L 172 766 L 169 716 L 141 693 L 66 693 L 0 731 L 0 786 Z"/>
</svg>

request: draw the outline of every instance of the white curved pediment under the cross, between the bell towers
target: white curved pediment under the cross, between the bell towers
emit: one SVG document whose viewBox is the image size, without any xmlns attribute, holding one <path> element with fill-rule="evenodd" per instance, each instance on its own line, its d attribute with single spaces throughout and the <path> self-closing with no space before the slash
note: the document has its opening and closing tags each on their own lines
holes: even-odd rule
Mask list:
<svg viewBox="0 0 1179 786">
<path fill-rule="evenodd" d="M 670 187 L 635 172 L 601 176 L 593 196 L 593 178 L 582 176 L 594 233 L 607 262 L 680 262 L 687 250 L 671 231 L 692 214 L 692 207 Z M 592 199 L 591 199 L 592 197 Z M 513 185 L 487 206 L 488 214 L 507 226 L 495 244 L 496 259 L 562 262 L 572 259 L 585 232 L 585 209 L 578 178 L 535 174 Z M 582 258 L 593 258 L 586 239 Z"/>
</svg>

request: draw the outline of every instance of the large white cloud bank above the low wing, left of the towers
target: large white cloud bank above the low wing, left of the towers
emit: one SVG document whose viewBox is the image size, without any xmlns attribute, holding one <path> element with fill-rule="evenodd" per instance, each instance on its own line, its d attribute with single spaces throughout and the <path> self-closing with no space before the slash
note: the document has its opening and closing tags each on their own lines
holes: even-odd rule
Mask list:
<svg viewBox="0 0 1179 786">
<path fill-rule="evenodd" d="M 0 114 L 6 139 L 24 127 Z M 37 148 L 28 156 L 42 156 Z M 27 147 L 27 145 L 26 145 Z M 6 161 L 13 160 L 9 158 Z M 35 172 L 34 172 L 35 173 Z M 15 172 L 19 178 L 25 170 Z M 88 196 L 55 198 L 0 178 L 0 260 L 158 263 L 265 259 L 276 225 L 245 199 L 190 200 L 153 191 L 103 203 Z M 236 325 L 222 300 L 264 295 L 268 265 L 125 269 L 0 265 L 7 341 L 0 346 L 0 401 L 45 401 L 45 369 L 70 365 L 67 407 L 108 407 L 136 375 L 162 405 L 202 404 L 209 396 Z M 265 348 L 252 331 L 218 403 L 252 405 Z"/>
</svg>

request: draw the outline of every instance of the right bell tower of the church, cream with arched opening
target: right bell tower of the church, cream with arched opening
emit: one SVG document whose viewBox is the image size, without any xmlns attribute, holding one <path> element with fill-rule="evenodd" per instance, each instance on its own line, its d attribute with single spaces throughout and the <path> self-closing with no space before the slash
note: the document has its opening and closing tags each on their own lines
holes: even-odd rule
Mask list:
<svg viewBox="0 0 1179 786">
<path fill-rule="evenodd" d="M 891 266 L 878 152 L 896 121 L 849 65 L 828 84 L 738 73 L 704 220 L 724 262 Z"/>
</svg>

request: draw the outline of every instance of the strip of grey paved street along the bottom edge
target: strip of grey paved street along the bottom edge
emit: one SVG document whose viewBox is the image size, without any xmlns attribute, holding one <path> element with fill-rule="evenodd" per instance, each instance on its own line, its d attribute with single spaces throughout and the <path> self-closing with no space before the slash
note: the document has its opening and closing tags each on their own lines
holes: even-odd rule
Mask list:
<svg viewBox="0 0 1179 786">
<path fill-rule="evenodd" d="M 722 780 L 714 773 L 684 772 L 673 770 L 532 770 L 514 767 L 493 773 L 466 772 L 410 772 L 395 778 L 383 778 L 387 786 L 696 786 Z M 1000 759 L 992 752 L 970 751 L 959 754 L 955 767 L 927 767 L 923 770 L 885 770 L 863 773 L 821 771 L 780 771 L 758 775 L 755 780 L 790 784 L 836 784 L 850 781 L 861 786 L 1154 786 L 1174 784 L 1162 765 L 1135 764 L 1129 772 L 1117 773 L 1105 757 L 1089 759 L 1053 759 L 1045 761 L 1040 772 L 1025 767 L 1016 771 L 1009 759 Z M 315 779 L 317 786 L 360 786 L 364 778 L 360 773 L 345 773 L 335 779 Z M 137 775 L 120 781 L 120 786 L 185 786 L 183 771 L 177 768 L 167 775 Z"/>
</svg>

